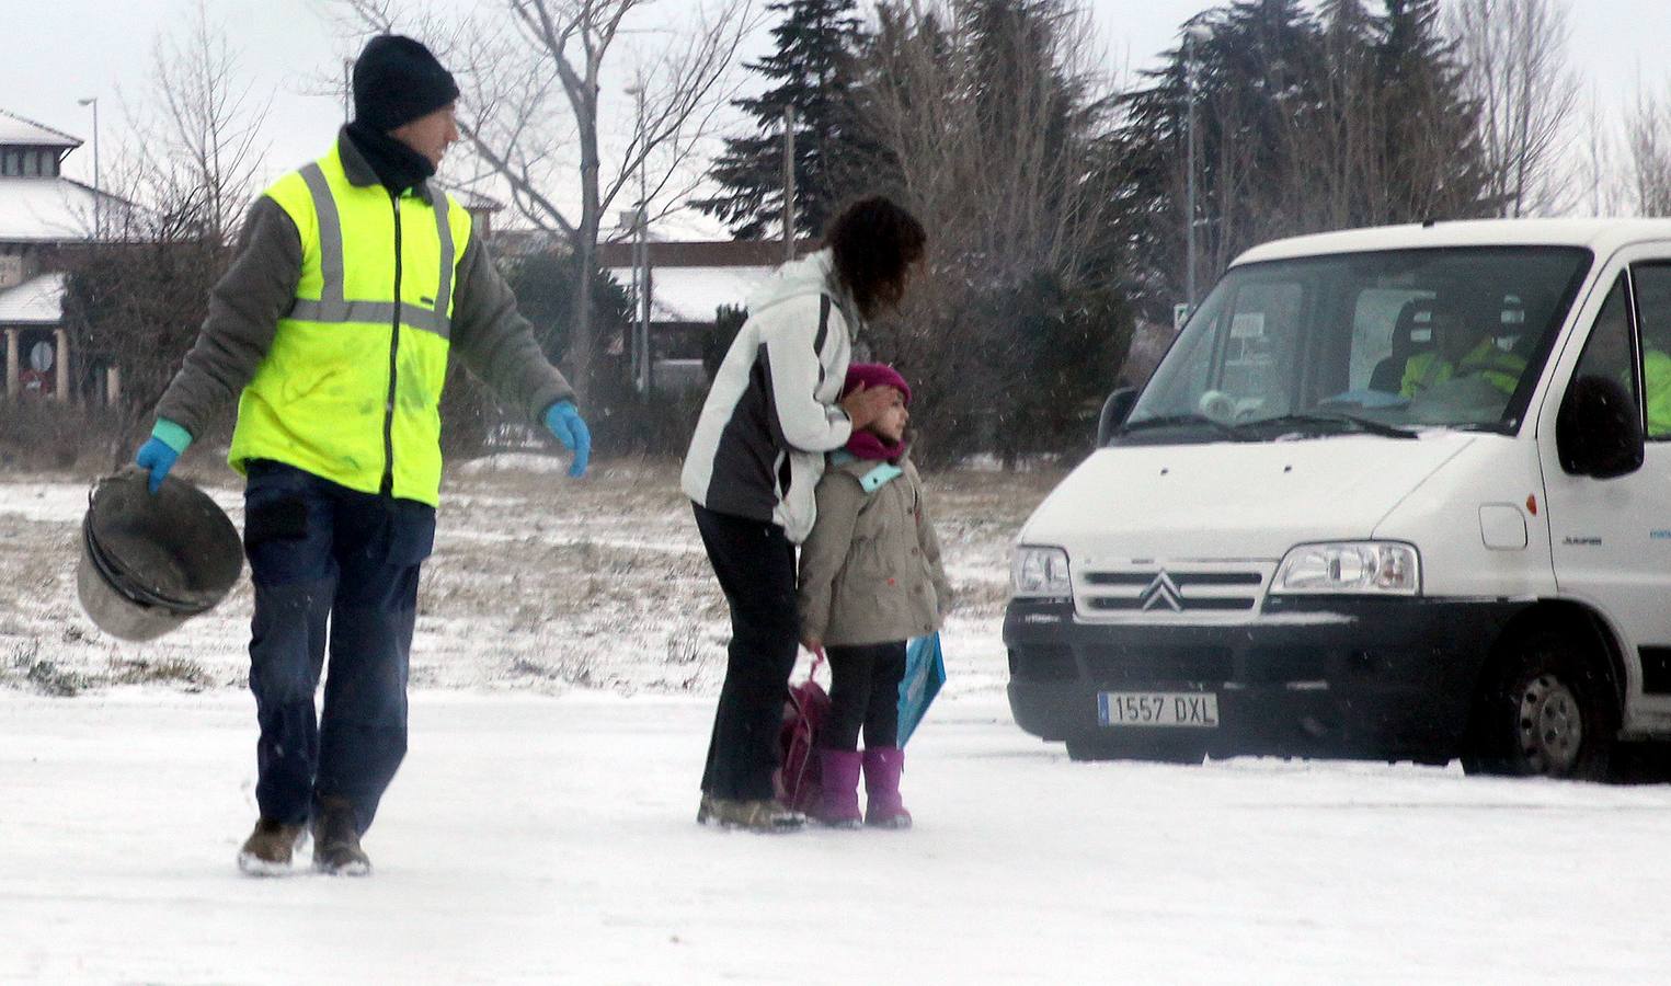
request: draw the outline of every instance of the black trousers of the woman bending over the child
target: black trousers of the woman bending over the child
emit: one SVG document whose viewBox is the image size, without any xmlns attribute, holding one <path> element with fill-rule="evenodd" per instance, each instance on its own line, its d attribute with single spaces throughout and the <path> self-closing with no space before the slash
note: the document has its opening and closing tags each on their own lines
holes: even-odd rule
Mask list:
<svg viewBox="0 0 1671 986">
<path fill-rule="evenodd" d="M 692 505 L 732 613 L 725 684 L 714 712 L 702 790 L 715 797 L 772 797 L 789 672 L 800 645 L 795 546 L 784 528 Z"/>
</svg>

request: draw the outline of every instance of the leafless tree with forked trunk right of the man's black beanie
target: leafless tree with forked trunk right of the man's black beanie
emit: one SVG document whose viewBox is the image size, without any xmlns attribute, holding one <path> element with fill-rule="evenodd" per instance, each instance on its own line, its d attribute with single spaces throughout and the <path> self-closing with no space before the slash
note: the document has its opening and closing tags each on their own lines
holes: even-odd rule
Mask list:
<svg viewBox="0 0 1671 986">
<path fill-rule="evenodd" d="M 623 35 L 655 13 L 657 0 L 501 0 L 451 23 L 401 20 L 391 0 L 339 0 L 363 27 L 426 35 L 470 80 L 460 129 L 516 211 L 566 244 L 578 269 L 595 266 L 603 216 L 623 199 L 660 214 L 683 206 L 700 182 L 695 152 L 732 95 L 742 42 L 757 23 L 752 0 L 714 0 L 695 27 L 640 50 L 625 140 L 603 125 L 602 79 Z M 652 28 L 653 30 L 653 28 Z M 658 32 L 657 32 L 658 33 Z M 605 160 L 608 159 L 608 160 Z M 578 189 L 570 186 L 578 172 Z M 637 180 L 635 180 L 637 179 Z M 575 201 L 578 199 L 578 206 Z M 585 403 L 597 348 L 590 277 L 575 297 L 568 364 Z"/>
</svg>

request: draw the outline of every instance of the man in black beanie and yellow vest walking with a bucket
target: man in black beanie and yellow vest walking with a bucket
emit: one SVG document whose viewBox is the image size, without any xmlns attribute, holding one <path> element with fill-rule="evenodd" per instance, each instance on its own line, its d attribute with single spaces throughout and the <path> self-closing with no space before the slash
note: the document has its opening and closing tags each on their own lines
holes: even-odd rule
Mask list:
<svg viewBox="0 0 1671 986">
<path fill-rule="evenodd" d="M 543 423 L 587 470 L 592 438 L 470 214 L 429 179 L 458 140 L 458 85 L 421 43 L 373 38 L 354 120 L 249 211 L 197 344 L 137 456 L 164 481 L 237 394 L 256 590 L 249 685 L 261 819 L 246 872 L 366 874 L 359 837 L 406 754 L 418 572 L 441 486 L 448 356 Z M 329 648 L 324 709 L 314 690 Z"/>
</svg>

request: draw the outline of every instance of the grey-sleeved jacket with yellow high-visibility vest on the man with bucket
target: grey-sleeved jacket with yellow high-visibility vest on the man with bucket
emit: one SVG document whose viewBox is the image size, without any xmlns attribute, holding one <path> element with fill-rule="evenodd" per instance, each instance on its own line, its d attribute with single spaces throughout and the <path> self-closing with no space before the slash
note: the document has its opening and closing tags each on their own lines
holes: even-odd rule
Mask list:
<svg viewBox="0 0 1671 986">
<path fill-rule="evenodd" d="M 242 393 L 234 470 L 274 460 L 433 506 L 449 353 L 530 423 L 573 398 L 480 239 L 433 182 L 393 197 L 344 127 L 251 206 L 159 421 L 202 436 Z"/>
</svg>

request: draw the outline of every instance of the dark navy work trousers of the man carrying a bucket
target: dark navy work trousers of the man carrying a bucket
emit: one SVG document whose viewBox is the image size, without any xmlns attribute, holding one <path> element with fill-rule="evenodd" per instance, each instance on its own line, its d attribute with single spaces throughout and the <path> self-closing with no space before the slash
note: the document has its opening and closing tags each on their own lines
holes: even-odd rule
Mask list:
<svg viewBox="0 0 1671 986">
<path fill-rule="evenodd" d="M 364 832 L 406 755 L 406 668 L 418 567 L 434 508 L 358 493 L 301 470 L 249 463 L 244 551 L 256 587 L 256 802 L 301 824 L 346 797 Z M 314 690 L 329 647 L 324 712 Z"/>
</svg>

